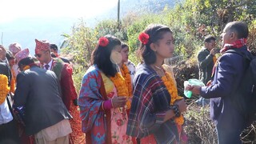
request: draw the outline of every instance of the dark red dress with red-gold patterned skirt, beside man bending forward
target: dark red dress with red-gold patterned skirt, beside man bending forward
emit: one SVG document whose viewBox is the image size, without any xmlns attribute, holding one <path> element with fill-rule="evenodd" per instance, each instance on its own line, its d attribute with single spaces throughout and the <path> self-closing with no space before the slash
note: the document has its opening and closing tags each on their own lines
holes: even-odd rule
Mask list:
<svg viewBox="0 0 256 144">
<path fill-rule="evenodd" d="M 70 134 L 70 144 L 84 144 L 86 143 L 85 134 L 82 133 L 82 123 L 80 119 L 80 112 L 78 106 L 74 105 L 74 100 L 78 95 L 74 88 L 72 79 L 72 67 L 70 64 L 62 62 L 60 58 L 53 60 L 51 69 L 57 75 L 62 90 L 62 101 L 64 102 L 67 110 L 69 110 L 73 119 L 70 119 L 70 126 L 72 133 Z"/>
</svg>

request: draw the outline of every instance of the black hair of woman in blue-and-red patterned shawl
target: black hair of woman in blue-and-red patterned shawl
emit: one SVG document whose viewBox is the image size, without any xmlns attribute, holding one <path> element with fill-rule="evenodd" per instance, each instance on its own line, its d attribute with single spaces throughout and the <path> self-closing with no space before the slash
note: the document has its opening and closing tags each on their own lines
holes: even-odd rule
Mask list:
<svg viewBox="0 0 256 144">
<path fill-rule="evenodd" d="M 121 45 L 121 41 L 110 34 L 104 37 L 109 40 L 109 43 L 107 46 L 96 46 L 91 55 L 91 64 L 96 64 L 106 76 L 114 77 L 118 70 L 117 66 L 110 61 L 110 54 L 114 46 Z"/>
</svg>

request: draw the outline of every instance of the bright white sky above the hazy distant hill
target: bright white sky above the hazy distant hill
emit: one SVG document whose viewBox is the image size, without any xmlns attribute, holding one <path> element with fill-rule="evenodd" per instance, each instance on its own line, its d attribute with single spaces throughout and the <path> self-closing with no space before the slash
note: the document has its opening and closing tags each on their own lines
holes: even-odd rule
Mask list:
<svg viewBox="0 0 256 144">
<path fill-rule="evenodd" d="M 30 17 L 91 18 L 117 4 L 118 0 L 4 0 L 0 23 Z"/>
</svg>

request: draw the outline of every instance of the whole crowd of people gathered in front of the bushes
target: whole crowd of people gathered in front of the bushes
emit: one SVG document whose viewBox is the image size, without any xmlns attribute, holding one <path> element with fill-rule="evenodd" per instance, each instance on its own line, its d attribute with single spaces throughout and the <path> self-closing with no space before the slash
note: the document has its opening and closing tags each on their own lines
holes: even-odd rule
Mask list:
<svg viewBox="0 0 256 144">
<path fill-rule="evenodd" d="M 147 26 L 138 35 L 138 66 L 130 62 L 125 42 L 100 37 L 79 94 L 71 62 L 58 54 L 57 45 L 35 39 L 34 57 L 17 42 L 9 50 L 0 45 L 0 143 L 187 143 L 186 101 L 178 95 L 171 66 L 164 64 L 174 54 L 174 36 L 168 26 Z M 198 53 L 199 79 L 206 86 L 184 89 L 210 99 L 218 143 L 241 143 L 244 119 L 230 101 L 243 62 L 226 51 L 250 54 L 248 27 L 230 22 L 221 36 L 221 50 L 214 36 L 207 36 Z"/>
</svg>

